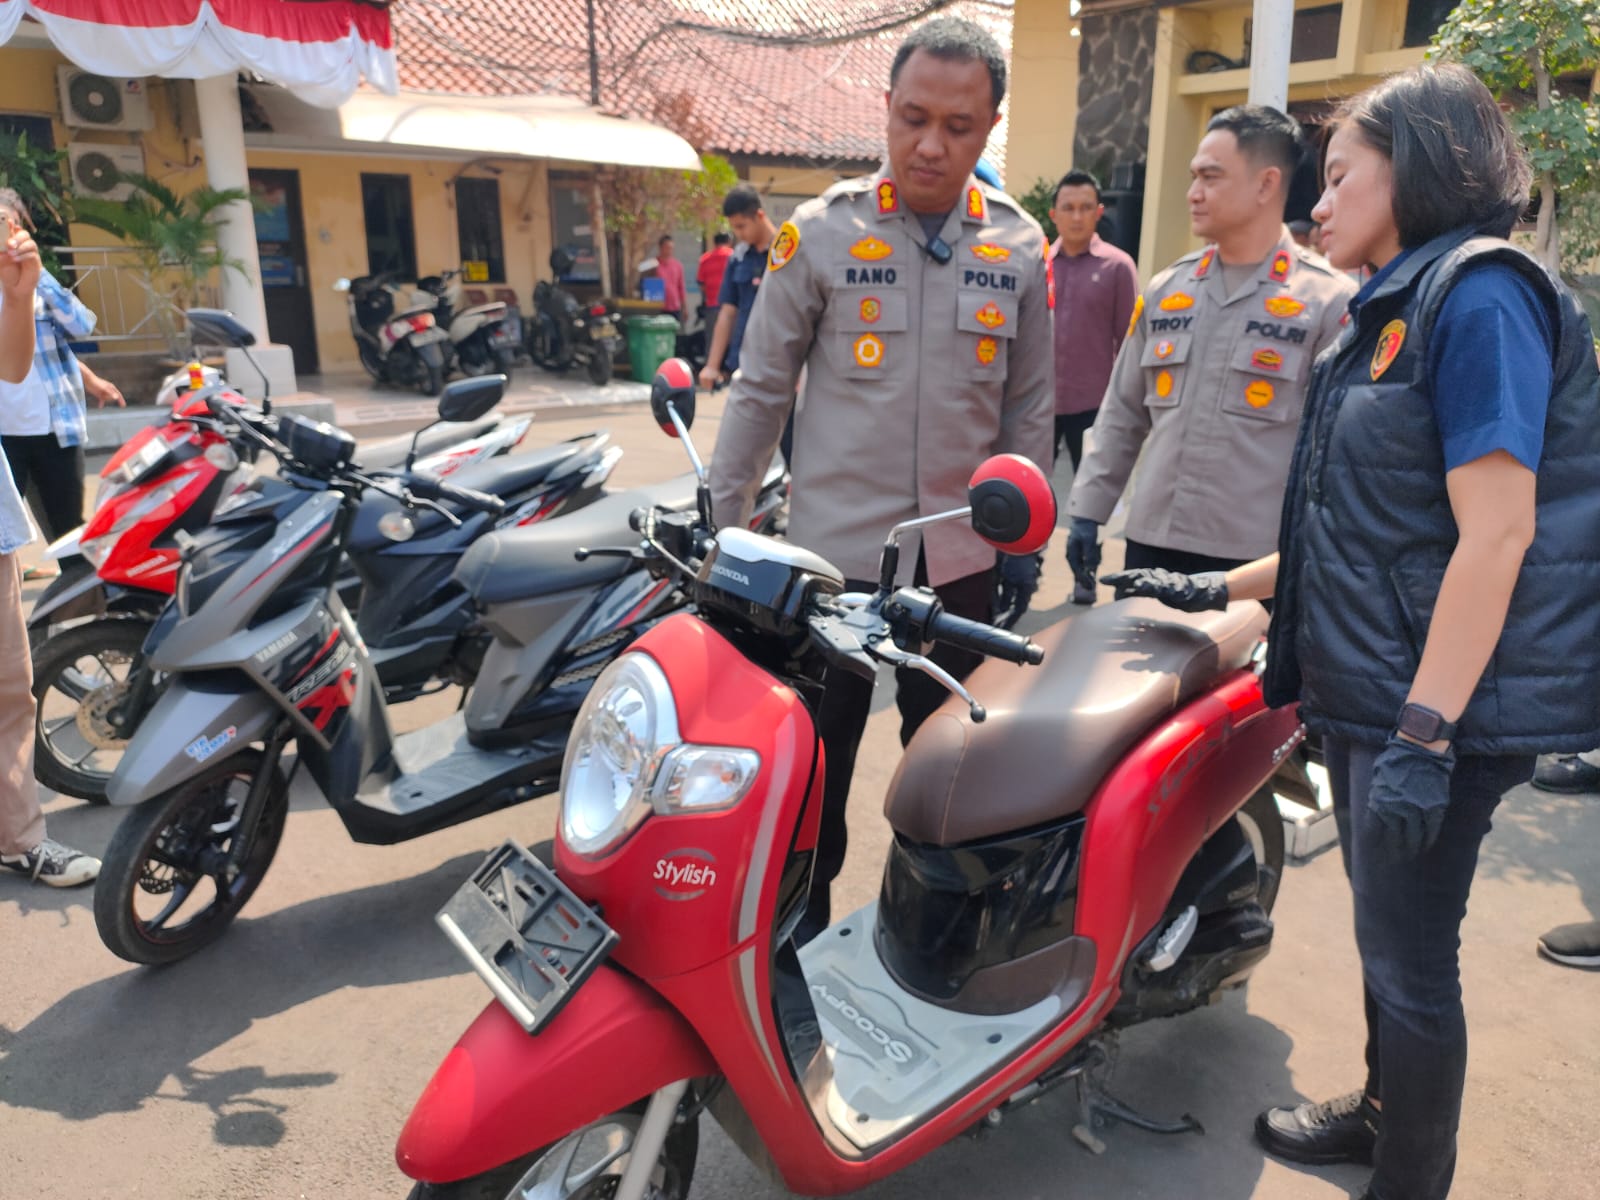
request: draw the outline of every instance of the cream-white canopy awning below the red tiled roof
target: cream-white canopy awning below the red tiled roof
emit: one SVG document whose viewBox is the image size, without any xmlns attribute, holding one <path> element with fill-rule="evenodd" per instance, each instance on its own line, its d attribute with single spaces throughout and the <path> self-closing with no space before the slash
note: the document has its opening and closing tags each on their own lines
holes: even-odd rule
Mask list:
<svg viewBox="0 0 1600 1200">
<path fill-rule="evenodd" d="M 618 166 L 701 168 L 694 147 L 650 122 L 608 117 L 566 96 L 360 91 L 339 107 L 354 142 L 426 146 Z"/>
</svg>

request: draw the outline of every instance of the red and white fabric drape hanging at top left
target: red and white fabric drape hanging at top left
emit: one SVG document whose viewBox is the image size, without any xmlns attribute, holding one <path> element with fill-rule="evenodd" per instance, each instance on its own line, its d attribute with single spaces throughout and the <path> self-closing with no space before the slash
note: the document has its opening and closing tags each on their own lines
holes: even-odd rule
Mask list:
<svg viewBox="0 0 1600 1200">
<path fill-rule="evenodd" d="M 390 94 L 398 86 L 389 13 L 357 0 L 0 0 L 0 45 L 29 16 L 99 75 L 251 70 L 325 107 L 362 78 Z"/>
</svg>

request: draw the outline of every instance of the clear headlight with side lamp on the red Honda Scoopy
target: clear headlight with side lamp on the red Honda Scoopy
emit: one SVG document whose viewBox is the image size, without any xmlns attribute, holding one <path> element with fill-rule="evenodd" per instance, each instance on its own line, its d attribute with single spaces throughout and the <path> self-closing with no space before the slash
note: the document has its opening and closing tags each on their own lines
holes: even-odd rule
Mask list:
<svg viewBox="0 0 1600 1200">
<path fill-rule="evenodd" d="M 680 742 L 667 677 L 650 656 L 622 654 L 595 680 L 566 744 L 562 840 L 600 858 L 651 811 L 733 808 L 760 766 L 755 750 Z"/>
</svg>

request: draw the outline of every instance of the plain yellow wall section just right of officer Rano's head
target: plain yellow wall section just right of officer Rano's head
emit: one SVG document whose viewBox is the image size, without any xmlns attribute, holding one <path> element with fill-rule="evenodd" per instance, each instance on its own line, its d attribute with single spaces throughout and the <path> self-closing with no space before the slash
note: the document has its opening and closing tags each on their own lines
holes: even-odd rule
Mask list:
<svg viewBox="0 0 1600 1200">
<path fill-rule="evenodd" d="M 1067 0 L 1018 0 L 1014 13 L 1006 187 L 1021 195 L 1072 166 L 1082 42 L 1070 35 Z"/>
</svg>

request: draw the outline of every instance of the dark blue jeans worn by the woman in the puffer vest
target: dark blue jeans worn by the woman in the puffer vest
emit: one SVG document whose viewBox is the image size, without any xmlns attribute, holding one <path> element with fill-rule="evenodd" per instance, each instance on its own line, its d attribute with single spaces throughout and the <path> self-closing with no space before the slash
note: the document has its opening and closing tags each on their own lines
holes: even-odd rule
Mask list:
<svg viewBox="0 0 1600 1200">
<path fill-rule="evenodd" d="M 1461 757 L 1438 842 L 1416 862 L 1371 851 L 1366 794 L 1381 747 L 1323 742 L 1366 998 L 1366 1094 L 1382 1104 L 1374 1200 L 1445 1200 L 1467 1078 L 1461 918 L 1494 806 L 1533 778 L 1533 757 Z"/>
</svg>

